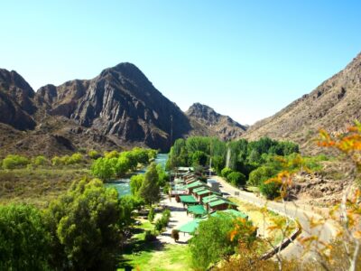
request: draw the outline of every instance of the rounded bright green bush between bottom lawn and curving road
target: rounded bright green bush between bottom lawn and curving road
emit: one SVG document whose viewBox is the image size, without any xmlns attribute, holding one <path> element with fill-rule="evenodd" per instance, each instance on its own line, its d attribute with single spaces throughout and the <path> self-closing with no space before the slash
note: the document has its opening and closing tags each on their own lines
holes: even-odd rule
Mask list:
<svg viewBox="0 0 361 271">
<path fill-rule="evenodd" d="M 229 238 L 229 233 L 234 229 L 234 220 L 233 216 L 220 213 L 199 223 L 197 234 L 190 239 L 195 269 L 207 270 L 210 264 L 235 253 L 238 239 Z"/>
</svg>

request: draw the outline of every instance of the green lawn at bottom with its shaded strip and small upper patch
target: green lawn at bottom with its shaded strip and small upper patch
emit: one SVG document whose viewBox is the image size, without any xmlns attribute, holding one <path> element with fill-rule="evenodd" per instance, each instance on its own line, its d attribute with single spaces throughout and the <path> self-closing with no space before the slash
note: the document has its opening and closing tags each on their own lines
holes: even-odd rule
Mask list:
<svg viewBox="0 0 361 271">
<path fill-rule="evenodd" d="M 148 220 L 140 221 L 142 224 L 134 227 L 132 243 L 125 249 L 118 270 L 125 270 L 125 266 L 133 266 L 141 271 L 191 270 L 188 245 L 144 242 L 145 230 L 153 230 L 154 226 Z"/>
</svg>

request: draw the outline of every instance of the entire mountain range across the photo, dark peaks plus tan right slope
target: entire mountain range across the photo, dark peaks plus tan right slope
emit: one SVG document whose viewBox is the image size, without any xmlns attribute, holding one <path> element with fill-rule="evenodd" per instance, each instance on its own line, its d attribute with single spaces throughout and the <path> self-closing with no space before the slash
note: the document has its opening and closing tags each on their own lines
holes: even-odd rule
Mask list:
<svg viewBox="0 0 361 271">
<path fill-rule="evenodd" d="M 0 113 L 0 156 L 134 145 L 167 151 L 174 140 L 190 135 L 269 136 L 292 140 L 312 153 L 320 127 L 344 131 L 361 120 L 361 54 L 310 94 L 249 128 L 199 103 L 182 112 L 131 63 L 36 92 L 14 70 L 0 69 Z"/>
</svg>

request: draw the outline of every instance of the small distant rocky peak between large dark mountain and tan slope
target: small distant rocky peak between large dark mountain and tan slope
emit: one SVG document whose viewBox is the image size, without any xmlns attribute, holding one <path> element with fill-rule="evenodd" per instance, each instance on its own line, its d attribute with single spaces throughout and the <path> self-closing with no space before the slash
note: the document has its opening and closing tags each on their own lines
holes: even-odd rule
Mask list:
<svg viewBox="0 0 361 271">
<path fill-rule="evenodd" d="M 207 126 L 209 134 L 216 135 L 223 140 L 236 139 L 246 130 L 246 126 L 240 125 L 231 117 L 220 115 L 213 108 L 199 103 L 193 104 L 187 110 L 186 115 Z"/>
</svg>

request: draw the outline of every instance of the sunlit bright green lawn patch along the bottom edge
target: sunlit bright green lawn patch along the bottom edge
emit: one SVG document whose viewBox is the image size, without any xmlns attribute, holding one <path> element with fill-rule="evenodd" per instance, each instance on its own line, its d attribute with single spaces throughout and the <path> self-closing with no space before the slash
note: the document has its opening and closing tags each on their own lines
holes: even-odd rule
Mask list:
<svg viewBox="0 0 361 271">
<path fill-rule="evenodd" d="M 190 249 L 188 245 L 170 245 L 162 248 L 141 251 L 137 254 L 125 255 L 126 265 L 134 269 L 146 271 L 183 271 L 191 270 Z M 118 270 L 124 270 L 119 268 Z"/>
</svg>

